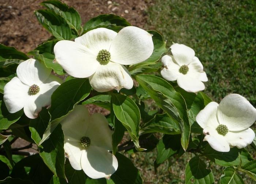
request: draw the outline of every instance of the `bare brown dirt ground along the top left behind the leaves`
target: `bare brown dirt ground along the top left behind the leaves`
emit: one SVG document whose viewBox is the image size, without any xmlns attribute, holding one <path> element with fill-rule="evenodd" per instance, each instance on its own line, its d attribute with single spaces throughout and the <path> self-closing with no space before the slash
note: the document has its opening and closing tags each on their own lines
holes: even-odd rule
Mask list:
<svg viewBox="0 0 256 184">
<path fill-rule="evenodd" d="M 34 10 L 45 9 L 43 0 L 0 0 L 0 43 L 16 47 L 22 52 L 33 50 L 50 37 L 34 15 Z M 99 14 L 113 13 L 127 19 L 133 26 L 144 28 L 146 0 L 62 0 L 74 7 L 82 18 L 82 25 Z"/>
</svg>

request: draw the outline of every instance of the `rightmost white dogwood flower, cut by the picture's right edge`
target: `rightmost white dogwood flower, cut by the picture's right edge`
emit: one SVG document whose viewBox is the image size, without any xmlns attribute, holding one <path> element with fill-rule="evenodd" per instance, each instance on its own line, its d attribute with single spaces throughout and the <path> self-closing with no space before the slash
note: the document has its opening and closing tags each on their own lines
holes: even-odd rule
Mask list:
<svg viewBox="0 0 256 184">
<path fill-rule="evenodd" d="M 255 133 L 249 128 L 256 120 L 256 109 L 244 97 L 230 94 L 221 103 L 210 102 L 196 116 L 203 128 L 204 141 L 219 152 L 230 147 L 244 148 L 251 144 Z"/>
</svg>

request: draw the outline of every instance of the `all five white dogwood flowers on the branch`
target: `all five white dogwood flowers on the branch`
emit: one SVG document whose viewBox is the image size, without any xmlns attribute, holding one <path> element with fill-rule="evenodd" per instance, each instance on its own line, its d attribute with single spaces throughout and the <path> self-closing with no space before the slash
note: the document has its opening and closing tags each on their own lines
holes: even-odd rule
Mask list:
<svg viewBox="0 0 256 184">
<path fill-rule="evenodd" d="M 192 48 L 173 44 L 173 55 L 162 57 L 161 75 L 176 81 L 182 89 L 196 93 L 204 90 L 208 81 L 203 65 Z M 133 26 L 118 34 L 97 28 L 75 41 L 61 40 L 54 46 L 55 61 L 76 78 L 89 78 L 98 92 L 121 88 L 131 89 L 133 80 L 124 65 L 136 64 L 153 53 L 152 35 Z M 51 95 L 61 79 L 51 69 L 35 59 L 19 64 L 17 76 L 4 87 L 4 102 L 10 113 L 22 108 L 29 118 L 36 118 L 42 107 L 50 105 Z M 206 135 L 204 140 L 215 150 L 228 152 L 230 146 L 244 148 L 255 133 L 249 128 L 256 120 L 256 109 L 242 96 L 231 94 L 220 105 L 209 103 L 196 116 Z M 102 114 L 89 115 L 86 107 L 78 105 L 61 122 L 65 136 L 64 150 L 72 167 L 91 178 L 109 178 L 118 167 L 112 150 L 112 134 Z"/>
</svg>

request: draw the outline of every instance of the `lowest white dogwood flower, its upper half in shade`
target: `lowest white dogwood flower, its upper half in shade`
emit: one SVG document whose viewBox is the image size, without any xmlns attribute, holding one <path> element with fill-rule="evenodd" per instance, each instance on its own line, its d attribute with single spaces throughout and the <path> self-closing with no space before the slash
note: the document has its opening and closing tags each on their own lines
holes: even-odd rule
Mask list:
<svg viewBox="0 0 256 184">
<path fill-rule="evenodd" d="M 112 134 L 105 116 L 89 115 L 87 108 L 78 105 L 61 122 L 64 132 L 64 150 L 71 166 L 87 176 L 107 178 L 117 170 L 116 157 L 112 150 Z"/>
</svg>

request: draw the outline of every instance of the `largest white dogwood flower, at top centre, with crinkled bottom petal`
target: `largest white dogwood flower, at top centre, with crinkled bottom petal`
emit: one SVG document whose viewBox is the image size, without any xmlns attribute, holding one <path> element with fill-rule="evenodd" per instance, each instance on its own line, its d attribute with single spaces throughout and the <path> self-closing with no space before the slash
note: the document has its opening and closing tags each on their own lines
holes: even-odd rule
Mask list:
<svg viewBox="0 0 256 184">
<path fill-rule="evenodd" d="M 89 77 L 98 92 L 131 89 L 133 81 L 123 64 L 136 64 L 153 52 L 152 35 L 138 27 L 128 26 L 118 34 L 97 28 L 75 39 L 61 40 L 54 46 L 55 60 L 71 76 Z"/>
</svg>

